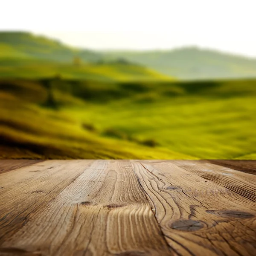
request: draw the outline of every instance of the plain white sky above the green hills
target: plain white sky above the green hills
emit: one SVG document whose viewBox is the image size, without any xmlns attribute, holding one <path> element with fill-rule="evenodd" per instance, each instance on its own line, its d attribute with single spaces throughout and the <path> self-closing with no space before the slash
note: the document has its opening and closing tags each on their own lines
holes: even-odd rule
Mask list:
<svg viewBox="0 0 256 256">
<path fill-rule="evenodd" d="M 0 30 L 92 49 L 197 45 L 256 57 L 256 0 L 8 0 Z"/>
</svg>

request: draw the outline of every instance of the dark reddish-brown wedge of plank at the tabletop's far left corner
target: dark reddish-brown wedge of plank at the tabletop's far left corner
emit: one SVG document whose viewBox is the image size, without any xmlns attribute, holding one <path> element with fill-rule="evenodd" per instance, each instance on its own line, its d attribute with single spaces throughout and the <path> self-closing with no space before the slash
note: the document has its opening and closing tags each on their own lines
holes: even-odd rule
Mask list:
<svg viewBox="0 0 256 256">
<path fill-rule="evenodd" d="M 43 160 L 0 160 L 0 174 L 4 172 L 9 172 L 15 169 L 19 169 L 21 167 L 30 166 L 35 163 L 40 163 Z"/>
</svg>

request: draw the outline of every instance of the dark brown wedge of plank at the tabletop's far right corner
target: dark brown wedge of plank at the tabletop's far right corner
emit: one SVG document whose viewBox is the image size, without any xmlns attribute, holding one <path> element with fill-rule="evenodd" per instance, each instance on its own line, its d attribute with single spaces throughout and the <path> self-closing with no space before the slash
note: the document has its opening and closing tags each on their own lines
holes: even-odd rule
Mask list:
<svg viewBox="0 0 256 256">
<path fill-rule="evenodd" d="M 256 175 L 255 160 L 202 160 L 203 162 L 214 163 L 219 166 L 228 167 L 241 172 Z"/>
</svg>

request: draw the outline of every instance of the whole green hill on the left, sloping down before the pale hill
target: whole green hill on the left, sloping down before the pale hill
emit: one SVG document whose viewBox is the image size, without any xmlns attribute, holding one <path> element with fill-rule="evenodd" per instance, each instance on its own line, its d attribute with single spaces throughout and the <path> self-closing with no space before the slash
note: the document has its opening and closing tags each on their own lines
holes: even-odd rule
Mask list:
<svg viewBox="0 0 256 256">
<path fill-rule="evenodd" d="M 0 77 L 89 79 L 100 81 L 172 80 L 123 58 L 68 47 L 29 32 L 0 32 Z"/>
</svg>

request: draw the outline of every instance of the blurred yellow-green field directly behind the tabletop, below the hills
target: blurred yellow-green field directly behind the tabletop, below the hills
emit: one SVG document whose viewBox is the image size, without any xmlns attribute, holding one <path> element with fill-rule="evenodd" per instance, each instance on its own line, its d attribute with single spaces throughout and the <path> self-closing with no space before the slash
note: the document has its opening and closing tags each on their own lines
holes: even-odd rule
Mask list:
<svg viewBox="0 0 256 256">
<path fill-rule="evenodd" d="M 255 159 L 256 80 L 0 81 L 1 158 Z"/>
</svg>

